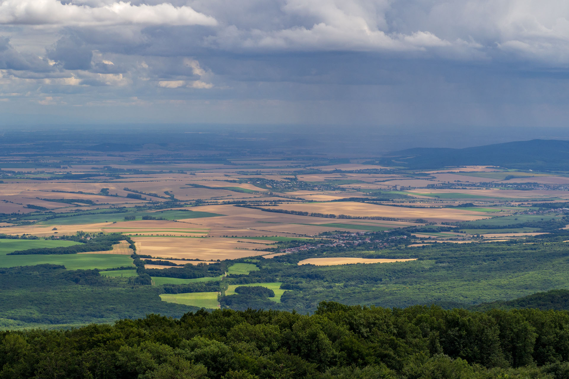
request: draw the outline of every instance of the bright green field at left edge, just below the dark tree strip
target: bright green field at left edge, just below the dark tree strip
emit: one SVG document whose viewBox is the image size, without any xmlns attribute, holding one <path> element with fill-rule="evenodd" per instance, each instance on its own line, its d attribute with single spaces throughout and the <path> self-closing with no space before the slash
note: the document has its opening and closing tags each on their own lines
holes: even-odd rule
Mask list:
<svg viewBox="0 0 569 379">
<path fill-rule="evenodd" d="M 128 255 L 118 254 L 52 254 L 0 256 L 0 267 L 34 266 L 39 264 L 64 265 L 68 270 L 109 269 L 133 266 Z"/>
</svg>

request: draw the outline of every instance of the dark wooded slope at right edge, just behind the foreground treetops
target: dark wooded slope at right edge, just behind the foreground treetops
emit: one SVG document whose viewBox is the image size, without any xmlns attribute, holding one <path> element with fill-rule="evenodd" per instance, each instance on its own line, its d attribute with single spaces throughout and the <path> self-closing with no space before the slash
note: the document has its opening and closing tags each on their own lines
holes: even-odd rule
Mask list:
<svg viewBox="0 0 569 379">
<path fill-rule="evenodd" d="M 559 289 L 538 292 L 510 301 L 494 301 L 470 307 L 472 310 L 535 308 L 541 310 L 569 311 L 569 290 Z"/>
</svg>

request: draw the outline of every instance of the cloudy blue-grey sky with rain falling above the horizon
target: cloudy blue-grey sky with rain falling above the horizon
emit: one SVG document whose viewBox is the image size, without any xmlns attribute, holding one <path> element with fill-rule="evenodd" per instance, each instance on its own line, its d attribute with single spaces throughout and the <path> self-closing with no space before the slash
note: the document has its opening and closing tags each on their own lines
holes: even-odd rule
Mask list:
<svg viewBox="0 0 569 379">
<path fill-rule="evenodd" d="M 568 102 L 567 1 L 0 0 L 0 125 L 563 128 Z"/>
</svg>

